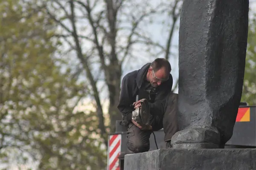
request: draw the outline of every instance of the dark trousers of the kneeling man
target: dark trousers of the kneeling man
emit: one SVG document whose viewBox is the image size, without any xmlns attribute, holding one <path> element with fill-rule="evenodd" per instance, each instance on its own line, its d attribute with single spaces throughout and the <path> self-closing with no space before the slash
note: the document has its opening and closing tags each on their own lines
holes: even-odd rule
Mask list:
<svg viewBox="0 0 256 170">
<path fill-rule="evenodd" d="M 163 116 L 154 116 L 152 122 L 152 130 L 141 130 L 139 127 L 130 123 L 127 130 L 127 146 L 133 153 L 147 152 L 150 148 L 149 138 L 152 131 L 163 128 L 165 136 L 164 141 L 167 142 L 166 147 L 171 147 L 170 140 L 178 131 L 177 125 L 177 94 L 169 94 L 166 101 L 166 111 Z"/>
</svg>

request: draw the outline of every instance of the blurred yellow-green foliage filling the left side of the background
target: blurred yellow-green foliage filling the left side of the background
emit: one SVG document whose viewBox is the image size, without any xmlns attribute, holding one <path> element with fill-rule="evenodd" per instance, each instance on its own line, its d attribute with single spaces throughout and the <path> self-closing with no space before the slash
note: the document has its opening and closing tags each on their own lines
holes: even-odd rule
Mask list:
<svg viewBox="0 0 256 170">
<path fill-rule="evenodd" d="M 76 111 L 87 84 L 52 57 L 55 25 L 31 4 L 0 1 L 0 164 L 104 169 L 96 113 Z"/>
</svg>

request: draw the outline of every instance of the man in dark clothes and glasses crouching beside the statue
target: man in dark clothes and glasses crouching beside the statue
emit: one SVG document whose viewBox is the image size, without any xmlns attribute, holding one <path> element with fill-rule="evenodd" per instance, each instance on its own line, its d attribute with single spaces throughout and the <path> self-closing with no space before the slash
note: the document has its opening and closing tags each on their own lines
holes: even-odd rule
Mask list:
<svg viewBox="0 0 256 170">
<path fill-rule="evenodd" d="M 118 109 L 123 116 L 123 125 L 128 127 L 128 149 L 134 153 L 148 151 L 152 131 L 162 128 L 166 147 L 171 147 L 171 138 L 177 132 L 177 94 L 172 94 L 173 79 L 170 72 L 169 61 L 157 58 L 122 79 Z M 140 100 L 135 102 L 137 95 Z M 141 106 L 141 99 L 149 102 L 151 128 L 148 129 L 132 120 L 132 111 Z"/>
</svg>

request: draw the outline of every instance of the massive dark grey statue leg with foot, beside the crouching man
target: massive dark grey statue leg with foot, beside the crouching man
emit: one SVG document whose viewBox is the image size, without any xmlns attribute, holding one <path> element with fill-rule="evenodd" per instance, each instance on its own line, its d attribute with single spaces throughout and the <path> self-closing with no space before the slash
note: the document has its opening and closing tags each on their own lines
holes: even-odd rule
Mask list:
<svg viewBox="0 0 256 170">
<path fill-rule="evenodd" d="M 219 148 L 231 138 L 244 79 L 248 10 L 248 0 L 184 0 L 174 148 Z"/>
</svg>

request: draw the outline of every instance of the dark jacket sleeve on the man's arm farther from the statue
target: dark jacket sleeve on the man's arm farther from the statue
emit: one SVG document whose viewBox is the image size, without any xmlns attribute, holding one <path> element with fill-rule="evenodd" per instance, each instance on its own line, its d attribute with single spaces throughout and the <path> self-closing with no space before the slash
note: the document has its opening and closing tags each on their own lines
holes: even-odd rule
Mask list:
<svg viewBox="0 0 256 170">
<path fill-rule="evenodd" d="M 133 97 L 131 93 L 131 85 L 129 84 L 129 77 L 125 76 L 122 79 L 122 85 L 121 85 L 121 93 L 119 97 L 119 104 L 117 108 L 123 115 L 123 123 L 128 124 L 131 122 L 131 115 L 132 111 L 134 111 L 134 107 L 131 105 L 133 104 Z"/>
</svg>

